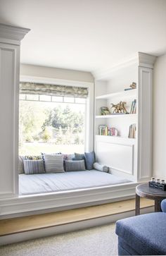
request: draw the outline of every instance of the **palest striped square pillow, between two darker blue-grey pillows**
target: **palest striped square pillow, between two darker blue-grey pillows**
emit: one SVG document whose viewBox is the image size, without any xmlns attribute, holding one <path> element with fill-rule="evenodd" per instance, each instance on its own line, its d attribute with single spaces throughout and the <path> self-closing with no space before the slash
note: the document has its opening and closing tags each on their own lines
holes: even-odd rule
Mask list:
<svg viewBox="0 0 166 256">
<path fill-rule="evenodd" d="M 43 154 L 46 173 L 63 173 L 63 154 Z"/>
</svg>

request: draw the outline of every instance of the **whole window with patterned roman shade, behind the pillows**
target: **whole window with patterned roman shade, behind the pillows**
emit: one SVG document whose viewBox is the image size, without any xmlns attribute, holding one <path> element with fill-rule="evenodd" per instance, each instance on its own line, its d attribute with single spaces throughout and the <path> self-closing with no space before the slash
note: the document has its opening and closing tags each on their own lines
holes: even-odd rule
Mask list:
<svg viewBox="0 0 166 256">
<path fill-rule="evenodd" d="M 63 93 L 49 87 L 49 93 L 45 90 L 42 94 L 36 87 L 39 84 L 20 84 L 19 154 L 84 152 L 87 88 L 75 87 L 73 92 L 70 87 L 65 95 L 63 86 Z"/>
</svg>

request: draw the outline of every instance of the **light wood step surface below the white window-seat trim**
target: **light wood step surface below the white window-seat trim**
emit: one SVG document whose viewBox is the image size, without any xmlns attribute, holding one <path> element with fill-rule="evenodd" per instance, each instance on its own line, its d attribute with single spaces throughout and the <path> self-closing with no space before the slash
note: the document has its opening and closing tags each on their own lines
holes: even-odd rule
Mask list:
<svg viewBox="0 0 166 256">
<path fill-rule="evenodd" d="M 141 198 L 141 208 L 153 206 L 153 200 Z M 0 220 L 0 236 L 13 233 L 33 231 L 40 228 L 70 224 L 99 217 L 106 217 L 135 209 L 135 200 L 112 202 L 105 205 L 96 205 L 79 209 L 70 209 L 62 212 L 37 214 L 27 217 Z"/>
</svg>

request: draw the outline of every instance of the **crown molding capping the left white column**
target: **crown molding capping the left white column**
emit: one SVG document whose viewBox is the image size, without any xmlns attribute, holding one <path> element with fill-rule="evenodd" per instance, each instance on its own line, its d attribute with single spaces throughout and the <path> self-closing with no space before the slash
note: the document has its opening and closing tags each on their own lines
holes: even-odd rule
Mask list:
<svg viewBox="0 0 166 256">
<path fill-rule="evenodd" d="M 28 28 L 19 28 L 0 23 L 0 42 L 20 45 L 20 41 L 29 31 L 30 29 Z"/>
</svg>

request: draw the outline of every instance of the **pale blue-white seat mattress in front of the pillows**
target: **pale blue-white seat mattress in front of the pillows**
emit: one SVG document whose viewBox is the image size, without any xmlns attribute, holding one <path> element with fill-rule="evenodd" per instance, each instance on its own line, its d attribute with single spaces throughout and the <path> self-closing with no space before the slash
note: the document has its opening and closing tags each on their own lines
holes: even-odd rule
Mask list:
<svg viewBox="0 0 166 256">
<path fill-rule="evenodd" d="M 20 195 L 51 193 L 81 188 L 96 188 L 129 182 L 102 171 L 68 171 L 65 173 L 20 174 Z"/>
</svg>

